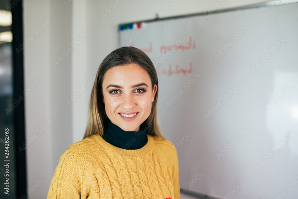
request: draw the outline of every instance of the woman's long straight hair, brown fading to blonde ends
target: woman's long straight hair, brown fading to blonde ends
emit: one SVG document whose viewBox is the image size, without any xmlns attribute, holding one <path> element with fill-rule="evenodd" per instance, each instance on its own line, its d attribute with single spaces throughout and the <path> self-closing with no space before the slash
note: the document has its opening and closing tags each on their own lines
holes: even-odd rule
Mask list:
<svg viewBox="0 0 298 199">
<path fill-rule="evenodd" d="M 152 102 L 150 115 L 145 120 L 149 124 L 149 128 L 146 131 L 146 134 L 160 136 L 162 139 L 165 139 L 164 136 L 162 136 L 158 120 L 158 81 L 156 70 L 148 55 L 146 55 L 142 50 L 132 46 L 123 46 L 114 50 L 113 52 L 108 54 L 100 64 L 91 91 L 89 100 L 88 121 L 83 139 L 91 135 L 103 135 L 104 124 L 105 122 L 107 122 L 107 115 L 105 113 L 105 106 L 103 103 L 102 88 L 103 77 L 105 76 L 106 71 L 115 66 L 128 64 L 137 64 L 138 66 L 145 69 L 145 71 L 147 71 L 151 79 L 152 90 L 154 85 L 157 85 L 157 91 L 154 96 L 154 101 Z"/>
</svg>

